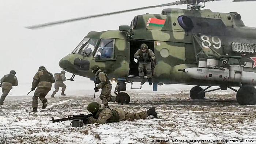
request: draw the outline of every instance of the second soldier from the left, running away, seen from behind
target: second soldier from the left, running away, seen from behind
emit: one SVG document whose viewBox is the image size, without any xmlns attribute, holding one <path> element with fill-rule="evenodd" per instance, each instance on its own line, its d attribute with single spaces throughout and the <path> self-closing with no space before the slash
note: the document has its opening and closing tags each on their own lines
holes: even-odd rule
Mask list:
<svg viewBox="0 0 256 144">
<path fill-rule="evenodd" d="M 45 96 L 51 90 L 52 83 L 54 83 L 54 82 L 55 82 L 55 80 L 54 80 L 52 73 L 48 72 L 45 69 L 45 67 L 43 67 L 43 66 L 39 67 L 38 72 L 35 73 L 35 76 L 34 76 L 33 82 L 32 82 L 31 91 L 34 91 L 35 88 L 37 88 L 37 90 L 35 90 L 34 96 L 32 98 L 33 99 L 33 101 L 32 101 L 33 111 L 31 111 L 31 112 L 37 112 L 38 97 L 43 103 L 42 109 L 46 108 L 47 99 L 45 98 Z"/>
</svg>

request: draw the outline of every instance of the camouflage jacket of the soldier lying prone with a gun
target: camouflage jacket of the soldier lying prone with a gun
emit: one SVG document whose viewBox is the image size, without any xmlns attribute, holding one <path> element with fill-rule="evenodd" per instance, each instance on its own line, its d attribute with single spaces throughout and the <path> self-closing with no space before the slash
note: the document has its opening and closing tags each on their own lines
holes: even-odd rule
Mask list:
<svg viewBox="0 0 256 144">
<path fill-rule="evenodd" d="M 116 110 L 111 110 L 109 107 L 106 107 L 104 105 L 100 105 L 100 109 L 98 112 L 94 115 L 94 117 L 89 117 L 88 124 L 105 124 L 105 122 L 118 122 L 119 121 L 119 115 Z"/>
</svg>

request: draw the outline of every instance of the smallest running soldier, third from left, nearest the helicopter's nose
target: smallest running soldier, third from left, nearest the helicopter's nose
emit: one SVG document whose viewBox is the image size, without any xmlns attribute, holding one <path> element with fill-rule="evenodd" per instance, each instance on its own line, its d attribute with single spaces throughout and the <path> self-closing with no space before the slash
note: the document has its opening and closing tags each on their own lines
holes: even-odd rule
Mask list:
<svg viewBox="0 0 256 144">
<path fill-rule="evenodd" d="M 53 91 L 51 97 L 54 98 L 54 95 L 59 91 L 59 88 L 62 87 L 61 89 L 61 95 L 65 95 L 64 92 L 66 90 L 66 85 L 63 83 L 66 81 L 65 77 L 65 71 L 61 71 L 60 73 L 55 73 L 54 74 L 54 79 L 56 80 L 54 84 L 55 91 Z"/>
</svg>

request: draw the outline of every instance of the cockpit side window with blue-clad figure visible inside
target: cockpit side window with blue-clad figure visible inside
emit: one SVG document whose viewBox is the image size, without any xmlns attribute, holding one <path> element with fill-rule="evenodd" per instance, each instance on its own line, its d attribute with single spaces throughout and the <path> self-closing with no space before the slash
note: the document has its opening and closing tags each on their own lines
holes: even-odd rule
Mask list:
<svg viewBox="0 0 256 144">
<path fill-rule="evenodd" d="M 99 43 L 98 49 L 94 55 L 95 58 L 114 58 L 114 39 L 102 38 Z"/>
</svg>

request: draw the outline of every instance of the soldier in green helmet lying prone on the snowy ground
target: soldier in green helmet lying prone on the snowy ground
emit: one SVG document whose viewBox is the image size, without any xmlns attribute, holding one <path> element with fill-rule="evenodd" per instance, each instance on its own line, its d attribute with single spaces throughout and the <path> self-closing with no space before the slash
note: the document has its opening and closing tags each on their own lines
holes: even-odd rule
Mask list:
<svg viewBox="0 0 256 144">
<path fill-rule="evenodd" d="M 153 115 L 154 118 L 157 118 L 155 107 L 151 107 L 149 110 L 141 111 L 139 113 L 129 113 L 119 108 L 110 109 L 109 107 L 99 105 L 97 102 L 91 102 L 87 106 L 87 110 L 93 114 L 93 117 L 89 117 L 86 124 L 105 124 L 105 122 L 111 123 L 122 120 L 138 120 L 144 119 L 149 115 Z"/>
</svg>

